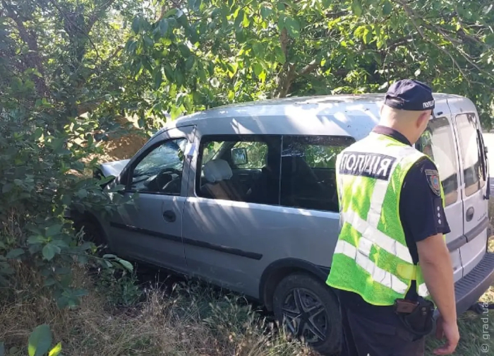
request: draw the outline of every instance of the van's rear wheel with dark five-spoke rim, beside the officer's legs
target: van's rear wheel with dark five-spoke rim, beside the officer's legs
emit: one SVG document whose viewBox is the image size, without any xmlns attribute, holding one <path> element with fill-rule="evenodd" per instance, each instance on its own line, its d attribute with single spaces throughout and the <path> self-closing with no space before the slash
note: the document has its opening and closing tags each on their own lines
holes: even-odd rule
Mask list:
<svg viewBox="0 0 494 356">
<path fill-rule="evenodd" d="M 342 339 L 339 303 L 334 292 L 308 273 L 285 277 L 273 295 L 280 325 L 323 355 L 339 352 Z"/>
</svg>

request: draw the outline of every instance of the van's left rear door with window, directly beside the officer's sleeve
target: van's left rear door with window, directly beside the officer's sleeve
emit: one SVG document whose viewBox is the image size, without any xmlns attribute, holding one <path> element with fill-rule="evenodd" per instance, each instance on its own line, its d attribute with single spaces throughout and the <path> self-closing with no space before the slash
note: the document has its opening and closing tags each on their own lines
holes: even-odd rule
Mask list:
<svg viewBox="0 0 494 356">
<path fill-rule="evenodd" d="M 459 184 L 459 155 L 454 140 L 454 129 L 450 110 L 439 107 L 439 117 L 430 119 L 426 132 L 417 142 L 418 150 L 426 153 L 435 162 L 445 193 L 445 214 L 451 232 L 446 235 L 450 250 L 454 281 L 463 276 L 460 247 L 464 244 L 462 191 Z"/>
</svg>

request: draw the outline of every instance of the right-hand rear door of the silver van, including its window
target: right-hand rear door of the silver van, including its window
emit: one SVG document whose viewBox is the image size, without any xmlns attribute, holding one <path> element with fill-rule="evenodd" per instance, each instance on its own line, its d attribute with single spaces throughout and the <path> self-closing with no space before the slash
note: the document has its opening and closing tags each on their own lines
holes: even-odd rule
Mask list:
<svg viewBox="0 0 494 356">
<path fill-rule="evenodd" d="M 486 199 L 486 161 L 480 123 L 474 107 L 454 117 L 461 155 L 465 243 L 460 247 L 464 275 L 469 273 L 486 252 L 488 201 Z"/>
</svg>

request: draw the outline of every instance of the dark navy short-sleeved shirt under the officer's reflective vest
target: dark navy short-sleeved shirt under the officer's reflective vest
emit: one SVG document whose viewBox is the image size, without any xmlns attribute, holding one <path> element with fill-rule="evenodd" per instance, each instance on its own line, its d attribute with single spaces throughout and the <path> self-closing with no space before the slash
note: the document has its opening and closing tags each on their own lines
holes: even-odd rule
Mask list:
<svg viewBox="0 0 494 356">
<path fill-rule="evenodd" d="M 398 131 L 385 126 L 375 126 L 373 132 L 390 136 L 399 142 L 410 145 L 410 141 Z M 447 224 L 442 200 L 435 191 L 430 174 L 437 167 L 428 159 L 419 160 L 409 172 L 403 182 L 402 192 L 399 198 L 399 218 L 405 233 L 406 245 L 409 248 L 411 259 L 418 263 L 418 251 L 416 243 L 437 234 L 447 234 L 450 227 Z M 360 295 L 344 290 L 339 291 L 340 302 L 351 309 L 368 316 L 378 318 L 381 321 L 394 318 L 392 307 L 377 307 L 365 302 Z M 406 299 L 416 299 L 416 285 L 412 282 Z"/>
</svg>

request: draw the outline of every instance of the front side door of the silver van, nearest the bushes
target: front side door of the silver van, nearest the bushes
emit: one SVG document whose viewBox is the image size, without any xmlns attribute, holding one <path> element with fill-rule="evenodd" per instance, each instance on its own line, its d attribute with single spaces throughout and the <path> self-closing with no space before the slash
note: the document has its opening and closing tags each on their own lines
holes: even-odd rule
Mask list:
<svg viewBox="0 0 494 356">
<path fill-rule="evenodd" d="M 110 223 L 112 246 L 118 254 L 174 271 L 186 271 L 182 242 L 182 210 L 188 182 L 186 150 L 194 126 L 160 133 L 123 172 L 126 196 Z"/>
</svg>

